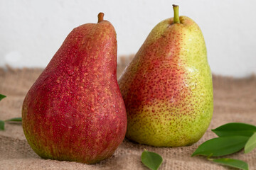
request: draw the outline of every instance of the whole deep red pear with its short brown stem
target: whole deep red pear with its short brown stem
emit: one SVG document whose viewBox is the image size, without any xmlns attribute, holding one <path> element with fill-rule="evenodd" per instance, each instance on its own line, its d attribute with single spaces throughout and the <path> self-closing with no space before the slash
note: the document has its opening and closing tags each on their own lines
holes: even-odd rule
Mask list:
<svg viewBox="0 0 256 170">
<path fill-rule="evenodd" d="M 103 15 L 72 30 L 23 101 L 23 132 L 42 158 L 93 164 L 124 140 L 116 32 Z"/>
</svg>

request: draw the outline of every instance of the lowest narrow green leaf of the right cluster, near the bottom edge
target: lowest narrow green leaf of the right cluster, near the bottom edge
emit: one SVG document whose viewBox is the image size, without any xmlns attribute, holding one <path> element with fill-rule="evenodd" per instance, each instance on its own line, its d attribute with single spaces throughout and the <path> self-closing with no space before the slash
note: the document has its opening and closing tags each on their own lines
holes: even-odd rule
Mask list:
<svg viewBox="0 0 256 170">
<path fill-rule="evenodd" d="M 213 159 L 213 162 L 217 162 L 219 164 L 223 164 L 226 166 L 231 166 L 233 168 L 248 170 L 248 164 L 238 159 L 230 159 L 230 158 L 220 158 L 220 159 Z"/>
</svg>

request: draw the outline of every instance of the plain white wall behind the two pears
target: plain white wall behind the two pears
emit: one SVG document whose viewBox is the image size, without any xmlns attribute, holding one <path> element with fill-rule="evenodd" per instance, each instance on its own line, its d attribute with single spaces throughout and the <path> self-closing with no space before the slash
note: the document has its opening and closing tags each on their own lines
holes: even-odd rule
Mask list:
<svg viewBox="0 0 256 170">
<path fill-rule="evenodd" d="M 172 4 L 201 27 L 213 73 L 256 73 L 255 0 L 0 0 L 0 67 L 46 67 L 68 33 L 96 23 L 100 11 L 117 31 L 118 55 L 136 53 L 156 23 L 173 16 Z"/>
</svg>

